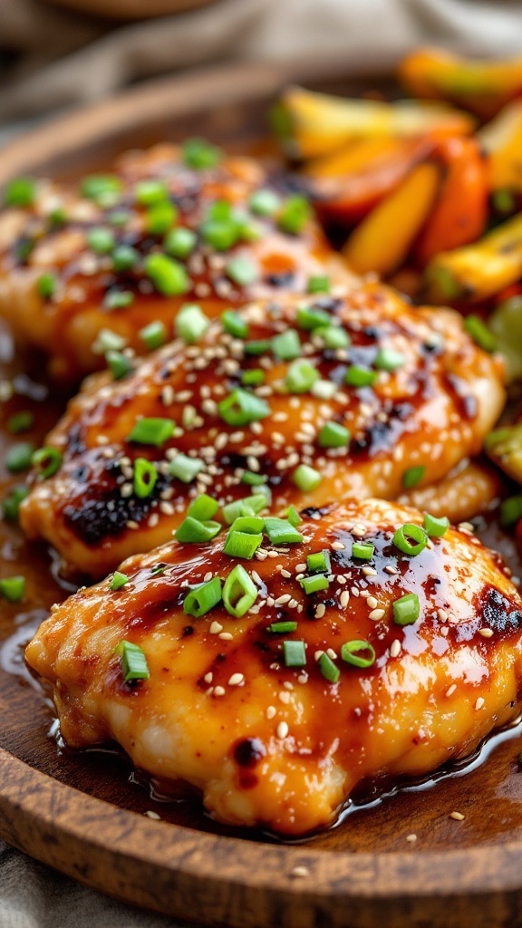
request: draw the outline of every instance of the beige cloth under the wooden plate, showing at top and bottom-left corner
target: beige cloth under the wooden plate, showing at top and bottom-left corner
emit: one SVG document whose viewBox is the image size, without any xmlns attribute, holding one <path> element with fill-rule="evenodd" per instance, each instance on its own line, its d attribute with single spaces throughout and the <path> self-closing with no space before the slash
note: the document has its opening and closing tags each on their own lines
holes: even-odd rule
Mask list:
<svg viewBox="0 0 522 928">
<path fill-rule="evenodd" d="M 0 61 L 14 57 L 0 80 L 0 122 L 6 134 L 9 121 L 202 62 L 345 55 L 346 69 L 353 70 L 391 64 L 419 43 L 491 56 L 522 53 L 522 4 L 220 0 L 192 13 L 115 26 L 38 0 L 0 0 Z M 0 928 L 72 925 L 167 928 L 175 922 L 100 896 L 0 842 Z"/>
</svg>

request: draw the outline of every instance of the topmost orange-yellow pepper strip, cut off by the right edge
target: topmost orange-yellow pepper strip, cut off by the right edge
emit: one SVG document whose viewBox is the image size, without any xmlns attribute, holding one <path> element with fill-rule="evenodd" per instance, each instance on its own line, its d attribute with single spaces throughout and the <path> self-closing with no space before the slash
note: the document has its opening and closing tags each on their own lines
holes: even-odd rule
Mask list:
<svg viewBox="0 0 522 928">
<path fill-rule="evenodd" d="M 487 61 L 420 48 L 401 61 L 398 78 L 413 97 L 448 100 L 490 119 L 522 94 L 522 58 Z"/>
</svg>

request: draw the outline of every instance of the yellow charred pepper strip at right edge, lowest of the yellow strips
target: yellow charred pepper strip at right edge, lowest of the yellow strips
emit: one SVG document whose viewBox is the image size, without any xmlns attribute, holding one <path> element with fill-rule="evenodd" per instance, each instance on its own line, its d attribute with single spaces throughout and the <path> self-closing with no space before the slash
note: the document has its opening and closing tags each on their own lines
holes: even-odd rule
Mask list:
<svg viewBox="0 0 522 928">
<path fill-rule="evenodd" d="M 522 277 L 522 213 L 474 245 L 442 251 L 427 265 L 424 298 L 479 303 Z"/>
</svg>

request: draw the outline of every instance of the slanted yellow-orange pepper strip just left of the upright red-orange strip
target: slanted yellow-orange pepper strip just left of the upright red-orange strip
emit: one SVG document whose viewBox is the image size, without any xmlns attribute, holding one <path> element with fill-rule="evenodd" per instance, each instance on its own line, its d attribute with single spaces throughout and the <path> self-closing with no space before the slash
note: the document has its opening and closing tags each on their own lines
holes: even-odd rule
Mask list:
<svg viewBox="0 0 522 928">
<path fill-rule="evenodd" d="M 418 164 L 357 226 L 343 250 L 354 271 L 385 277 L 402 264 L 433 206 L 440 178 L 435 161 Z"/>
</svg>

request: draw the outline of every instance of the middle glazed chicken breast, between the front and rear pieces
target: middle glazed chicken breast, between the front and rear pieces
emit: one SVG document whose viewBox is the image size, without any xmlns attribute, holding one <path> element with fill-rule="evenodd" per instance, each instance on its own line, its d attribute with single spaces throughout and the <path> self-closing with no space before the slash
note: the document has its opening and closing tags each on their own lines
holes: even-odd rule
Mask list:
<svg viewBox="0 0 522 928">
<path fill-rule="evenodd" d="M 169 541 L 202 493 L 242 499 L 233 518 L 267 495 L 281 510 L 422 488 L 476 454 L 504 401 L 499 359 L 460 316 L 379 285 L 202 328 L 197 306 L 184 315 L 198 344 L 88 380 L 48 436 L 20 521 L 84 574 Z"/>
</svg>

